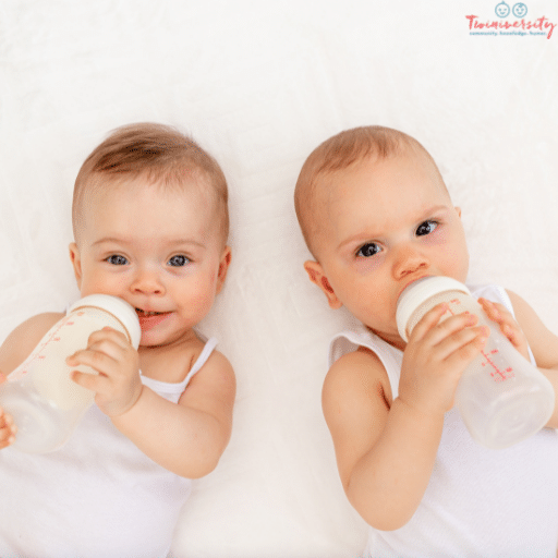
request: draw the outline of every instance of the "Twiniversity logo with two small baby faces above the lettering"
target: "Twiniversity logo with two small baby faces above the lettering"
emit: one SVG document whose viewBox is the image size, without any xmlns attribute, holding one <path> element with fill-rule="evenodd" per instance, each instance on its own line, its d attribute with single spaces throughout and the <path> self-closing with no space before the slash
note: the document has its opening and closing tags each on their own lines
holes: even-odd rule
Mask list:
<svg viewBox="0 0 558 558">
<path fill-rule="evenodd" d="M 502 35 L 538 36 L 549 39 L 557 24 L 551 23 L 545 15 L 527 19 L 527 12 L 529 9 L 523 2 L 517 2 L 510 7 L 505 0 L 501 0 L 494 8 L 496 20 L 482 20 L 478 15 L 465 15 L 465 19 L 469 20 L 469 34 L 495 37 Z"/>
</svg>

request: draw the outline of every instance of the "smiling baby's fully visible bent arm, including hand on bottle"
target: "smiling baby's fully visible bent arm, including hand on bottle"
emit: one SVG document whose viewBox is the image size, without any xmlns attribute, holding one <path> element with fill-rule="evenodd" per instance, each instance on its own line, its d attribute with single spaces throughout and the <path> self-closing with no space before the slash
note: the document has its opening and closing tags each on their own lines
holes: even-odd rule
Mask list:
<svg viewBox="0 0 558 558">
<path fill-rule="evenodd" d="M 137 353 L 118 331 L 93 333 L 88 349 L 66 362 L 99 372 L 73 377 L 96 391 L 97 405 L 146 456 L 189 478 L 215 469 L 230 438 L 235 395 L 234 374 L 222 354 L 211 354 L 179 404 L 142 385 Z"/>
</svg>

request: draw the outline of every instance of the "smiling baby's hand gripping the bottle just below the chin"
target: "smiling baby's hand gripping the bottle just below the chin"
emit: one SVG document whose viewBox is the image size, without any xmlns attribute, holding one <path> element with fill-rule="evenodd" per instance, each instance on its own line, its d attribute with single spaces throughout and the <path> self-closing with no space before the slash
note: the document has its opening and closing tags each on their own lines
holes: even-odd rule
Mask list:
<svg viewBox="0 0 558 558">
<path fill-rule="evenodd" d="M 85 364 L 98 372 L 94 375 L 74 371 L 72 379 L 95 391 L 95 402 L 108 416 L 125 413 L 140 399 L 142 379 L 137 351 L 116 329 L 106 327 L 92 333 L 87 349 L 69 356 L 66 364 Z"/>
</svg>

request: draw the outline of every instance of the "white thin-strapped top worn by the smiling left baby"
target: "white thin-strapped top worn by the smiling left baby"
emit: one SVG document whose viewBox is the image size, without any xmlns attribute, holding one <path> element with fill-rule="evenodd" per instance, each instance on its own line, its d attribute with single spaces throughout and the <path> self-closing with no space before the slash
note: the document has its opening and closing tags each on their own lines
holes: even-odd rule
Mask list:
<svg viewBox="0 0 558 558">
<path fill-rule="evenodd" d="M 142 383 L 177 403 L 217 341 L 183 381 Z M 1 558 L 165 558 L 192 481 L 140 451 L 97 405 L 58 451 L 0 451 Z"/>
</svg>

